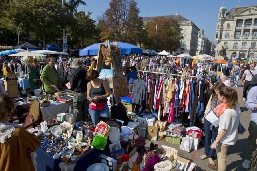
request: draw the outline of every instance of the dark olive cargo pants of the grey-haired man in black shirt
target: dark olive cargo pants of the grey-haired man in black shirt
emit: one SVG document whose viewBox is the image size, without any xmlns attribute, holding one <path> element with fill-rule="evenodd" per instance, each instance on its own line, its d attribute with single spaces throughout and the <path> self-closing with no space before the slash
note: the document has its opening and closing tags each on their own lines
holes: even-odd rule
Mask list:
<svg viewBox="0 0 257 171">
<path fill-rule="evenodd" d="M 87 100 L 87 92 L 74 93 L 73 108 L 79 110 L 77 114 L 77 121 L 86 121 L 88 115 L 89 101 Z"/>
</svg>

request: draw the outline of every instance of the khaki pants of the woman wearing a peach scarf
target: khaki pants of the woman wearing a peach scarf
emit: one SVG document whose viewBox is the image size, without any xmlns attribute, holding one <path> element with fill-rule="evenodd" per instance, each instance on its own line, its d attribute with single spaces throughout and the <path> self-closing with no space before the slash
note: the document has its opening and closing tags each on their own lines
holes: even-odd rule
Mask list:
<svg viewBox="0 0 257 171">
<path fill-rule="evenodd" d="M 218 171 L 226 171 L 228 146 L 229 145 L 219 143 L 216 148 L 218 156 Z"/>
</svg>

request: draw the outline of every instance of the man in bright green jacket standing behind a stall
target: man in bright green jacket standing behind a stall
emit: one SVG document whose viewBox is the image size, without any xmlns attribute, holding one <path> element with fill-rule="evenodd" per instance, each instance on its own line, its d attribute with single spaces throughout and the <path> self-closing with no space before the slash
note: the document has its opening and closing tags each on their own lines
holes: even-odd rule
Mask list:
<svg viewBox="0 0 257 171">
<path fill-rule="evenodd" d="M 48 64 L 43 68 L 40 80 L 43 82 L 43 90 L 47 94 L 56 92 L 54 86 L 62 87 L 60 75 L 55 69 L 55 59 L 53 57 L 47 58 Z"/>
</svg>

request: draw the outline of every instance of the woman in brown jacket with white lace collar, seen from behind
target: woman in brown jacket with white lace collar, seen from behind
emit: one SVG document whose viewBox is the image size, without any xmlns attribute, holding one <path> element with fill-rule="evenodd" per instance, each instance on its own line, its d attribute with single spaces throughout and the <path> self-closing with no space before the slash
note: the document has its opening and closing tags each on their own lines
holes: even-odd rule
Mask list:
<svg viewBox="0 0 257 171">
<path fill-rule="evenodd" d="M 40 146 L 40 140 L 24 127 L 9 123 L 14 103 L 8 95 L 0 94 L 0 170 L 35 170 L 30 152 Z"/>
</svg>

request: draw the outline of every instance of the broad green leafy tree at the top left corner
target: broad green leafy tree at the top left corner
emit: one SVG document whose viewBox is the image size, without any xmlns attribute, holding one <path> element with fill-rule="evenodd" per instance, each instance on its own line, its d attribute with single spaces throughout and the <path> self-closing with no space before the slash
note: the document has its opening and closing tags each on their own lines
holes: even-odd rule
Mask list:
<svg viewBox="0 0 257 171">
<path fill-rule="evenodd" d="M 69 21 L 71 17 L 68 9 L 57 0 L 15 0 L 6 3 L 5 7 L 8 9 L 3 10 L 1 23 L 9 21 L 17 29 L 21 27 L 33 32 L 35 37 L 40 35 L 44 48 L 47 36 L 53 36 L 48 34 L 51 33 L 49 30 L 60 30 L 64 27 L 64 20 Z"/>
</svg>

